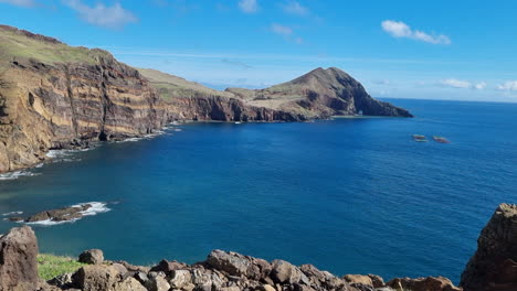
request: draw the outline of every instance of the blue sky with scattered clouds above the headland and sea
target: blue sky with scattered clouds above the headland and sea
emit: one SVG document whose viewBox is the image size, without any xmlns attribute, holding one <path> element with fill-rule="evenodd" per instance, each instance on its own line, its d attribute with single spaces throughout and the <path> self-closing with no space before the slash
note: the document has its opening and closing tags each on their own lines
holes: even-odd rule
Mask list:
<svg viewBox="0 0 517 291">
<path fill-rule="evenodd" d="M 517 1 L 0 0 L 1 23 L 224 88 L 339 67 L 374 97 L 517 101 Z"/>
</svg>

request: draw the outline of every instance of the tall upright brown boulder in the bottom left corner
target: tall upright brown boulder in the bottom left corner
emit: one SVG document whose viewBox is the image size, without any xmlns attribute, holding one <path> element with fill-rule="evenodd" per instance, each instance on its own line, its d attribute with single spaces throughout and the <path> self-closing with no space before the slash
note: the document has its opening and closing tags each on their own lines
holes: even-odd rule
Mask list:
<svg viewBox="0 0 517 291">
<path fill-rule="evenodd" d="M 29 226 L 0 237 L 0 290 L 36 290 L 38 239 Z"/>
</svg>

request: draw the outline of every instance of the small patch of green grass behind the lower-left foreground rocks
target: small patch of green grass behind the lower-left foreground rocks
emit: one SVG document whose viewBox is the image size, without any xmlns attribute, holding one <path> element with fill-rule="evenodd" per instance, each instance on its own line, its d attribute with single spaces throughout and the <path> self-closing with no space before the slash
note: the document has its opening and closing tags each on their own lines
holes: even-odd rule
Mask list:
<svg viewBox="0 0 517 291">
<path fill-rule="evenodd" d="M 40 278 L 50 280 L 56 276 L 75 272 L 85 263 L 70 257 L 60 257 L 46 254 L 38 255 L 38 272 Z"/>
</svg>

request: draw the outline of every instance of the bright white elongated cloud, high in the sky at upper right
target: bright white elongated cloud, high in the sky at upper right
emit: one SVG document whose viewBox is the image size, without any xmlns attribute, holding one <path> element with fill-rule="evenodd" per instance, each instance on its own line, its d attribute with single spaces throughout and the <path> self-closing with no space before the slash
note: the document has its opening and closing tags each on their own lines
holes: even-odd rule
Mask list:
<svg viewBox="0 0 517 291">
<path fill-rule="evenodd" d="M 388 34 L 397 39 L 405 37 L 432 44 L 451 44 L 451 39 L 446 35 L 431 35 L 423 31 L 412 30 L 411 26 L 402 21 L 384 20 L 381 26 Z"/>
</svg>

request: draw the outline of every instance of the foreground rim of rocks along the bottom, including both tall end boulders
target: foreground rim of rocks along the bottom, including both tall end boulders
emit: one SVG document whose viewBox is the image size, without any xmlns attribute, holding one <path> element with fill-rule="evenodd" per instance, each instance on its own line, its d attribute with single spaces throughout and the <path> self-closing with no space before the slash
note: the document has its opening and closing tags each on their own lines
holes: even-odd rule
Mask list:
<svg viewBox="0 0 517 291">
<path fill-rule="evenodd" d="M 188 265 L 162 260 L 154 267 L 104 260 L 101 250 L 80 255 L 82 267 L 48 281 L 39 277 L 38 240 L 23 226 L 0 236 L 0 290 L 83 291 L 515 291 L 517 290 L 517 205 L 502 204 L 483 229 L 461 287 L 443 277 L 395 278 L 374 274 L 337 277 L 312 265 L 266 261 L 213 250 Z M 41 266 L 40 266 L 41 268 Z"/>
</svg>

